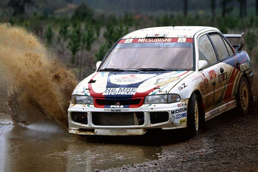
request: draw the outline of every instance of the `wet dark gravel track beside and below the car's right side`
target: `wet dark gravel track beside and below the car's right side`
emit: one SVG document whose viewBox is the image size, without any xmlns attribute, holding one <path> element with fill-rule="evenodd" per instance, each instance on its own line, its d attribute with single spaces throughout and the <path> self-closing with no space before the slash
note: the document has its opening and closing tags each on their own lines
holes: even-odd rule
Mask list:
<svg viewBox="0 0 258 172">
<path fill-rule="evenodd" d="M 258 76 L 253 93 L 258 95 Z M 199 135 L 187 139 L 178 131 L 153 138 L 163 144 L 160 159 L 107 171 L 258 171 L 258 101 L 249 114 L 234 110 L 206 122 Z M 151 142 L 151 140 L 150 140 Z"/>
</svg>

